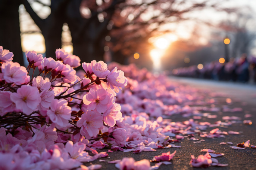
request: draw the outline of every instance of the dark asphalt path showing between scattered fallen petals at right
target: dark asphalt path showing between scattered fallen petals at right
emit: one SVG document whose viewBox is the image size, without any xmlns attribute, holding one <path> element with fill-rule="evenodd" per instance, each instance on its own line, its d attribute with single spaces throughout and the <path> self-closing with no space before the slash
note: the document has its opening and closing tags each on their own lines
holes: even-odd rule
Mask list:
<svg viewBox="0 0 256 170">
<path fill-rule="evenodd" d="M 215 99 L 217 102 L 216 107 L 223 107 L 223 105 L 227 105 L 226 98 L 230 98 L 232 103 L 228 104 L 229 108 L 242 108 L 242 111 L 238 112 L 209 112 L 211 114 L 217 114 L 217 118 L 208 119 L 203 117 L 202 120 L 199 121 L 208 121 L 210 123 L 214 123 L 218 120 L 222 120 L 223 116 L 237 116 L 241 117 L 243 120 L 251 120 L 252 125 L 245 125 L 242 123 L 234 123 L 231 126 L 226 126 L 223 128 L 219 128 L 222 131 L 228 132 L 229 130 L 240 132 L 240 135 L 227 135 L 226 138 L 204 138 L 205 141 L 201 143 L 193 143 L 193 141 L 187 140 L 186 138 L 181 141 L 181 143 L 175 143 L 176 145 L 181 145 L 180 148 L 167 148 L 167 149 L 159 149 L 155 152 L 141 152 L 138 154 L 133 154 L 132 152 L 113 152 L 108 153 L 108 158 L 101 158 L 105 161 L 112 161 L 117 159 L 122 159 L 123 157 L 133 157 L 136 161 L 142 159 L 151 160 L 154 156 L 160 155 L 163 152 L 173 153 L 175 150 L 177 151 L 173 159 L 171 160 L 171 165 L 161 165 L 159 167 L 162 169 L 176 169 L 176 170 L 185 170 L 185 169 L 201 169 L 201 168 L 193 168 L 190 165 L 191 156 L 195 155 L 195 157 L 204 154 L 205 152 L 200 152 L 202 149 L 212 149 L 215 152 L 224 153 L 224 156 L 217 157 L 219 163 L 229 164 L 226 167 L 208 167 L 208 169 L 256 169 L 256 149 L 247 148 L 245 150 L 236 150 L 232 149 L 230 146 L 232 145 L 220 145 L 220 142 L 233 142 L 233 146 L 236 146 L 238 143 L 245 142 L 250 140 L 250 145 L 256 145 L 256 85 L 250 84 L 242 84 L 242 83 L 232 83 L 232 82 L 218 82 L 212 80 L 200 80 L 200 79 L 189 79 L 189 78 L 179 78 L 179 77 L 170 77 L 170 81 L 177 82 L 179 84 L 184 84 L 185 86 L 190 86 L 195 89 L 200 89 L 198 95 L 208 96 L 209 93 L 220 93 L 222 96 L 208 96 L 208 99 Z M 206 92 L 207 91 L 207 92 Z M 200 93 L 200 94 L 199 94 Z M 209 104 L 210 105 L 210 104 Z M 209 107 L 209 105 L 203 105 Z M 198 105 L 200 106 L 200 105 Z M 204 113 L 204 111 L 201 111 Z M 206 111 L 205 111 L 206 112 Z M 252 117 L 245 118 L 245 114 L 252 114 Z M 181 115 L 170 116 L 172 121 L 184 121 L 188 120 L 191 117 L 182 117 Z M 223 121 L 223 120 L 222 120 Z M 209 132 L 213 128 L 208 128 Z M 98 150 L 98 152 L 107 151 L 108 149 Z M 86 166 L 92 164 L 101 164 L 101 169 L 117 169 L 114 164 L 108 164 L 108 162 L 100 162 L 99 159 L 85 163 Z M 155 163 L 151 162 L 151 166 L 155 165 Z"/>
</svg>

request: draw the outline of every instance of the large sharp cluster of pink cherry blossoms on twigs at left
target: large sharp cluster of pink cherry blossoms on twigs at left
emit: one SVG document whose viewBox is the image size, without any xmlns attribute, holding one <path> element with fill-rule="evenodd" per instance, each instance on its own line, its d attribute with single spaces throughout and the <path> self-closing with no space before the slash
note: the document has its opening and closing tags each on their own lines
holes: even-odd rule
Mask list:
<svg viewBox="0 0 256 170">
<path fill-rule="evenodd" d="M 79 57 L 55 53 L 56 60 L 27 51 L 25 68 L 0 46 L 0 169 L 77 168 L 108 156 L 95 150 L 106 145 L 98 137 L 113 146 L 126 141 L 126 130 L 114 127 L 122 118 L 115 98 L 127 85 L 123 71 L 93 60 L 80 78 L 73 69 Z"/>
</svg>

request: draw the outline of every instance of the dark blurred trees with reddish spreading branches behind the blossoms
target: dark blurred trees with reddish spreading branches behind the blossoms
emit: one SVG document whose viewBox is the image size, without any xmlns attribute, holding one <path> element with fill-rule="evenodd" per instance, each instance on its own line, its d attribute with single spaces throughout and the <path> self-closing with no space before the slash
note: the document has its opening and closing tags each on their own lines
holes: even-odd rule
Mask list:
<svg viewBox="0 0 256 170">
<path fill-rule="evenodd" d="M 33 10 L 34 3 L 49 6 L 51 13 L 41 18 Z M 23 4 L 45 38 L 46 56 L 54 56 L 61 47 L 61 33 L 64 23 L 70 29 L 73 54 L 83 61 L 102 60 L 104 46 L 111 48 L 112 60 L 124 63 L 125 57 L 135 51 L 144 52 L 150 45 L 148 38 L 169 32 L 161 29 L 167 23 L 177 23 L 191 18 L 184 17 L 191 11 L 214 8 L 217 11 L 232 12 L 219 8 L 212 1 L 188 2 L 185 0 L 2 0 L 0 14 L 0 44 L 5 49 L 21 54 L 19 6 Z M 8 8 L 7 8 L 8 7 Z M 160 30 L 161 29 L 161 30 Z M 106 42 L 105 37 L 111 36 Z M 22 63 L 23 59 L 16 58 Z"/>
</svg>

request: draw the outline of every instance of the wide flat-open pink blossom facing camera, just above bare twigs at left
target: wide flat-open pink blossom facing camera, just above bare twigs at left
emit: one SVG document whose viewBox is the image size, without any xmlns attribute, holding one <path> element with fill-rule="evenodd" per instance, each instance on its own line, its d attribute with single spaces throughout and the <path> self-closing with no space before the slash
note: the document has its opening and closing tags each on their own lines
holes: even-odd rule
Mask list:
<svg viewBox="0 0 256 170">
<path fill-rule="evenodd" d="M 17 93 L 11 94 L 10 98 L 15 103 L 16 108 L 22 110 L 27 115 L 35 111 L 37 105 L 41 102 L 37 88 L 27 85 L 21 86 Z"/>
</svg>

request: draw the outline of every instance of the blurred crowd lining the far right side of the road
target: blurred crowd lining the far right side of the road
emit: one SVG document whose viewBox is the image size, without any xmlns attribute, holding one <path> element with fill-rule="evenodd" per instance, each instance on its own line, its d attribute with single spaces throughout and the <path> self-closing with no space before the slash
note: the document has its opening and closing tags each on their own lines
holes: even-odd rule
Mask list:
<svg viewBox="0 0 256 170">
<path fill-rule="evenodd" d="M 203 67 L 192 65 L 176 68 L 173 69 L 172 75 L 238 82 L 251 80 L 256 83 L 256 57 L 242 54 L 240 58 L 231 58 L 229 62 L 212 61 L 204 63 Z"/>
</svg>

